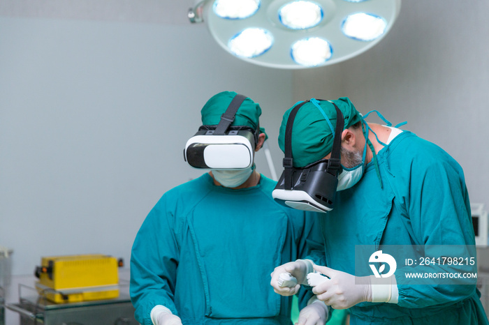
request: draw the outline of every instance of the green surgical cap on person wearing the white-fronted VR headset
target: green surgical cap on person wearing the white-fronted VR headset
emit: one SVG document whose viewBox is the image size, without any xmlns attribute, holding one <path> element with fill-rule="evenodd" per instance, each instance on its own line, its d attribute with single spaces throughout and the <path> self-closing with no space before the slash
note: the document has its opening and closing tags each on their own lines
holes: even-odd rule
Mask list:
<svg viewBox="0 0 489 325">
<path fill-rule="evenodd" d="M 221 115 L 226 112 L 231 100 L 237 95 L 234 91 L 223 91 L 217 93 L 207 100 L 200 114 L 202 114 L 202 124 L 204 126 L 215 126 L 221 121 Z M 241 104 L 235 119 L 231 126 L 250 126 L 256 129 L 258 127 L 258 117 L 261 115 L 261 108 L 258 103 L 255 103 L 251 98 L 247 97 Z M 260 128 L 260 133 L 265 133 L 264 128 Z M 268 136 L 265 133 L 265 139 Z"/>
</svg>

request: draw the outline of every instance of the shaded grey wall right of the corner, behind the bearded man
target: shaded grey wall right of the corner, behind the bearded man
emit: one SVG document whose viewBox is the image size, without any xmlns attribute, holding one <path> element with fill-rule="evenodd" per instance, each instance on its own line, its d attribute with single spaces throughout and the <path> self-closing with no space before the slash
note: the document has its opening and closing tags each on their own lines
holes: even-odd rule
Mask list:
<svg viewBox="0 0 489 325">
<path fill-rule="evenodd" d="M 471 202 L 489 209 L 488 15 L 488 1 L 404 0 L 392 31 L 372 49 L 296 71 L 294 100 L 348 96 L 360 112 L 407 121 L 402 128 L 460 162 Z"/>
</svg>

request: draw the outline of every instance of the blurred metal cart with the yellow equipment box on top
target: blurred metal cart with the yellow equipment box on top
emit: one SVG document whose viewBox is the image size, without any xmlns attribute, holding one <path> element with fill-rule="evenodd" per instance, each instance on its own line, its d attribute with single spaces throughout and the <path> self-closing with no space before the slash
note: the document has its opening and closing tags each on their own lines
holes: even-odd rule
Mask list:
<svg viewBox="0 0 489 325">
<path fill-rule="evenodd" d="M 34 275 L 18 282 L 19 302 L 5 307 L 19 314 L 20 325 L 138 325 L 122 266 L 102 254 L 42 257 Z"/>
</svg>

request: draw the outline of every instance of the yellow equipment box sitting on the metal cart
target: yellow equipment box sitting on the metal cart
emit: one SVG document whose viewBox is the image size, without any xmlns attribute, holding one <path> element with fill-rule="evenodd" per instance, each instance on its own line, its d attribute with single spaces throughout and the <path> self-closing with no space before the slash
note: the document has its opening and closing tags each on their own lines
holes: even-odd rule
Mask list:
<svg viewBox="0 0 489 325">
<path fill-rule="evenodd" d="M 54 303 L 117 298 L 120 263 L 101 254 L 43 257 L 36 289 Z"/>
</svg>

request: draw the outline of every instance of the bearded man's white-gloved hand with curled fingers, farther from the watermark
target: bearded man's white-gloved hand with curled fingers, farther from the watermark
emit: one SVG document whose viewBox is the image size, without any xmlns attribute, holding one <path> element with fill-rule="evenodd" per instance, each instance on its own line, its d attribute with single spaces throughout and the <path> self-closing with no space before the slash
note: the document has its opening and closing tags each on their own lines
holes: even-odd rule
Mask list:
<svg viewBox="0 0 489 325">
<path fill-rule="evenodd" d="M 281 266 L 277 266 L 270 274 L 272 276 L 270 285 L 277 294 L 282 296 L 293 296 L 299 291 L 300 285 L 307 285 L 306 275 L 307 273 L 314 271 L 314 269 L 312 269 L 313 265 L 314 263 L 309 259 L 298 259 L 295 262 L 289 262 L 282 264 Z M 280 283 L 282 281 L 279 281 L 279 278 L 282 273 L 290 273 L 295 279 L 297 279 L 297 285 L 294 287 L 281 287 Z"/>
</svg>

